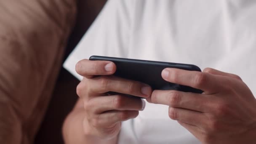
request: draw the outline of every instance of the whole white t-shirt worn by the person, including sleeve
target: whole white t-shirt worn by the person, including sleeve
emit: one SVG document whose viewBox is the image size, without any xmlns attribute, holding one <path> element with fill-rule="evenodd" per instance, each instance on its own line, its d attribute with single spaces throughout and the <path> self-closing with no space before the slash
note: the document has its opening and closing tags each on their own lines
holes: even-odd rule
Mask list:
<svg viewBox="0 0 256 144">
<path fill-rule="evenodd" d="M 256 96 L 255 0 L 109 0 L 64 67 L 91 55 L 195 64 L 239 75 Z M 125 121 L 120 144 L 198 144 L 147 103 Z"/>
</svg>

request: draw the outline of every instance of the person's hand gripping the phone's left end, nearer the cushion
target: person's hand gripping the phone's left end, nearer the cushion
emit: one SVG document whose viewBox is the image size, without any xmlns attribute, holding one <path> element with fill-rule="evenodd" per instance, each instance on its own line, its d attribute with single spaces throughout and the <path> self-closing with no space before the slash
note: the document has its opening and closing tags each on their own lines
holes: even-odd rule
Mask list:
<svg viewBox="0 0 256 144">
<path fill-rule="evenodd" d="M 113 76 L 116 66 L 111 61 L 84 59 L 76 64 L 76 71 L 84 77 L 77 85 L 77 95 L 83 100 L 85 109 L 85 136 L 116 139 L 121 122 L 137 117 L 145 107 L 144 100 L 121 93 L 144 98 L 152 93 L 149 85 Z"/>
</svg>

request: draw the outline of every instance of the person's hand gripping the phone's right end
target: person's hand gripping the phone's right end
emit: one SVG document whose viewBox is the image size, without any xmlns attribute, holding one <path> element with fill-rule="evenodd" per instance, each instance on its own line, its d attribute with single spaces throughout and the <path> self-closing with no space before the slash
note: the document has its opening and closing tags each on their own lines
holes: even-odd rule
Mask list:
<svg viewBox="0 0 256 144">
<path fill-rule="evenodd" d="M 202 94 L 153 91 L 147 101 L 169 106 L 177 120 L 204 144 L 255 144 L 256 99 L 240 77 L 207 68 L 203 72 L 167 68 L 162 77 Z"/>
</svg>

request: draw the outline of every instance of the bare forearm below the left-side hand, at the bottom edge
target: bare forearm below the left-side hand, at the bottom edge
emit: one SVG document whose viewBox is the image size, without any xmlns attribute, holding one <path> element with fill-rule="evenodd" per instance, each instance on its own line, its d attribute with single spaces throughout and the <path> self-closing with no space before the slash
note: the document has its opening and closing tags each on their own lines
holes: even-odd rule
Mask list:
<svg viewBox="0 0 256 144">
<path fill-rule="evenodd" d="M 77 107 L 68 115 L 62 130 L 65 144 L 117 144 L 117 137 L 106 141 L 86 136 L 83 131 L 83 119 L 83 108 Z"/>
</svg>

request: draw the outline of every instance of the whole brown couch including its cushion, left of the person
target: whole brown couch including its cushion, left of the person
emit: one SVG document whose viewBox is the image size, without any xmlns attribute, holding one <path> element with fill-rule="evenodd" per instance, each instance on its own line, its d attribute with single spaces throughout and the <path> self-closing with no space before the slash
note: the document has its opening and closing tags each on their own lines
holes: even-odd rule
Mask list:
<svg viewBox="0 0 256 144">
<path fill-rule="evenodd" d="M 105 0 L 0 2 L 0 144 L 61 144 L 79 83 L 61 65 Z"/>
</svg>

